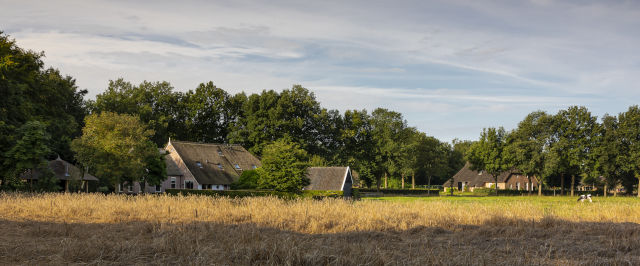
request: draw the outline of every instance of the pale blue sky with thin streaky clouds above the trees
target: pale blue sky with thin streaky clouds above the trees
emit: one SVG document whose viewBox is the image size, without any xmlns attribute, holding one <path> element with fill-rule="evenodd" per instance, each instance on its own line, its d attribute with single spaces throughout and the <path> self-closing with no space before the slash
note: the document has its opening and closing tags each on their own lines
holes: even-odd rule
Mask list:
<svg viewBox="0 0 640 266">
<path fill-rule="evenodd" d="M 443 141 L 572 105 L 640 100 L 640 1 L 0 0 L 0 31 L 89 98 L 109 80 L 300 84 L 322 106 L 383 107 Z"/>
</svg>

